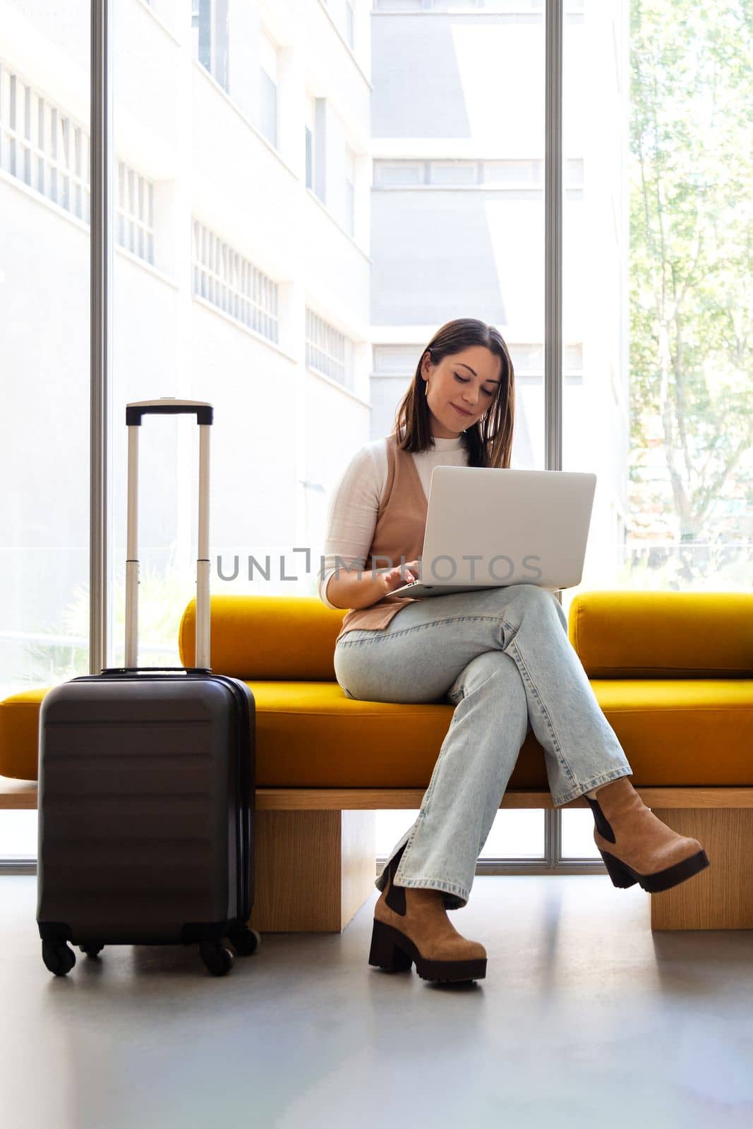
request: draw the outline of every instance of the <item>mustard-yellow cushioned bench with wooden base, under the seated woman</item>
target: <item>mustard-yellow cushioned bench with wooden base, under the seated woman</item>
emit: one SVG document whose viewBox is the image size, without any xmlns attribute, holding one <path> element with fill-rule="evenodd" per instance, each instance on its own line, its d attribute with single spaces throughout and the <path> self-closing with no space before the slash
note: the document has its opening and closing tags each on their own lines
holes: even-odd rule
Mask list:
<svg viewBox="0 0 753 1129">
<path fill-rule="evenodd" d="M 418 808 L 454 707 L 345 698 L 334 680 L 343 612 L 303 596 L 211 597 L 212 668 L 256 702 L 260 930 L 342 929 L 375 891 L 375 809 Z M 180 627 L 194 662 L 195 603 Z M 753 928 L 753 595 L 592 592 L 569 637 L 632 765 L 631 782 L 711 861 L 647 895 L 655 929 Z M 46 690 L 0 703 L 0 774 L 37 774 Z M 8 806 L 33 786 L 5 785 Z M 502 807 L 551 807 L 529 733 Z M 583 798 L 568 807 L 586 807 Z"/>
</svg>

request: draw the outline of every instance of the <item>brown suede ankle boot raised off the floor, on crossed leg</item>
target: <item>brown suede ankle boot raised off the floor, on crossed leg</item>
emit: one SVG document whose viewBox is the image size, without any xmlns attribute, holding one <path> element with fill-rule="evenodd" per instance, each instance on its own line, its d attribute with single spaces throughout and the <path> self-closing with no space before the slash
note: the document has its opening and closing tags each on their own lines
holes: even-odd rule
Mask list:
<svg viewBox="0 0 753 1129">
<path fill-rule="evenodd" d="M 709 865 L 697 839 L 662 823 L 627 777 L 599 785 L 586 796 L 596 820 L 594 842 L 615 886 L 637 882 L 651 894 L 671 890 Z"/>
</svg>

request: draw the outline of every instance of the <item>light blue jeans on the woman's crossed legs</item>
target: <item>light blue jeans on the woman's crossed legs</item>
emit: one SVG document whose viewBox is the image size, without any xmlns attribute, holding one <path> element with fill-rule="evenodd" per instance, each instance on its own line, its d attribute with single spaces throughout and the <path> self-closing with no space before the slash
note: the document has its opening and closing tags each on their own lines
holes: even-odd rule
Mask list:
<svg viewBox="0 0 753 1129">
<path fill-rule="evenodd" d="M 531 728 L 555 806 L 632 769 L 567 634 L 557 597 L 531 584 L 432 596 L 377 631 L 348 631 L 334 653 L 348 698 L 450 702 L 455 712 L 418 819 L 403 844 L 401 886 L 467 903 L 476 861 Z"/>
</svg>

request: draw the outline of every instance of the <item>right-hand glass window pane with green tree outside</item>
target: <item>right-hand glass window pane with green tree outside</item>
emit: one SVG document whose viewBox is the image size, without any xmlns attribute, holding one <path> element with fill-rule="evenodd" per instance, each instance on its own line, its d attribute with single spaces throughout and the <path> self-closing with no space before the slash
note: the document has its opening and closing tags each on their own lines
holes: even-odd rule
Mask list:
<svg viewBox="0 0 753 1129">
<path fill-rule="evenodd" d="M 594 12 L 595 52 L 566 24 L 564 148 L 581 150 L 583 199 L 563 202 L 563 333 L 583 339 L 583 383 L 566 380 L 562 465 L 597 474 L 568 605 L 594 587 L 750 588 L 753 385 L 734 312 L 750 296 L 739 155 L 753 135 L 735 93 L 744 19 L 735 5 L 727 17 L 717 34 L 680 3 L 629 19 L 614 0 Z M 683 68 L 694 80 L 678 86 Z"/>
</svg>

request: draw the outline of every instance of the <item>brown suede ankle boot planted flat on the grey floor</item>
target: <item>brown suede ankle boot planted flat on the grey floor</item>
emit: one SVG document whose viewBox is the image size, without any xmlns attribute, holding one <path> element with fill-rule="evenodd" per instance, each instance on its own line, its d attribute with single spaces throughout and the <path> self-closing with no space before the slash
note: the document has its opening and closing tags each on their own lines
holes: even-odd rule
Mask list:
<svg viewBox="0 0 753 1129">
<path fill-rule="evenodd" d="M 482 980 L 487 975 L 487 949 L 455 929 L 441 890 L 393 885 L 404 850 L 402 847 L 391 860 L 374 910 L 369 964 L 399 972 L 415 962 L 415 971 L 423 980 Z"/>
</svg>

